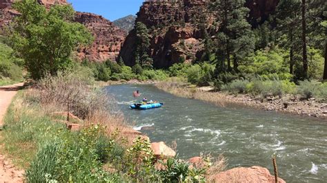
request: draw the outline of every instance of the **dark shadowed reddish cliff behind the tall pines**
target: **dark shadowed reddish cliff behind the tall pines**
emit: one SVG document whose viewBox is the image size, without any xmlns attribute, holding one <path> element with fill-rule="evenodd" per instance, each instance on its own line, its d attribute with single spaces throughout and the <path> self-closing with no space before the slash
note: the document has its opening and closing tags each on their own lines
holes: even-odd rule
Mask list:
<svg viewBox="0 0 327 183">
<path fill-rule="evenodd" d="M 144 23 L 151 36 L 148 55 L 152 56 L 154 67 L 170 67 L 181 60 L 192 61 L 201 58 L 204 47 L 204 32 L 200 23 L 206 23 L 206 30 L 213 36 L 217 26 L 212 21 L 217 19 L 210 12 L 206 0 L 183 0 L 176 2 L 146 1 L 137 13 L 136 22 Z M 250 8 L 249 21 L 257 25 L 257 19 L 266 20 L 275 11 L 279 0 L 247 0 Z M 135 65 L 136 32 L 128 34 L 119 56 L 126 65 Z"/>
</svg>

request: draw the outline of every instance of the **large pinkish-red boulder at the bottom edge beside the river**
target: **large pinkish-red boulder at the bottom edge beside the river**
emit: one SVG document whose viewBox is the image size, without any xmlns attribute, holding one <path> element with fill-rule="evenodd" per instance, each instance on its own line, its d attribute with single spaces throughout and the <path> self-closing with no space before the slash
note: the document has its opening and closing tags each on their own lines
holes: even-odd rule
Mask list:
<svg viewBox="0 0 327 183">
<path fill-rule="evenodd" d="M 270 172 L 266 168 L 260 166 L 252 166 L 250 168 L 235 168 L 228 171 L 224 171 L 210 177 L 212 182 L 275 182 L 275 177 L 270 175 Z M 285 181 L 278 178 L 279 183 Z"/>
</svg>

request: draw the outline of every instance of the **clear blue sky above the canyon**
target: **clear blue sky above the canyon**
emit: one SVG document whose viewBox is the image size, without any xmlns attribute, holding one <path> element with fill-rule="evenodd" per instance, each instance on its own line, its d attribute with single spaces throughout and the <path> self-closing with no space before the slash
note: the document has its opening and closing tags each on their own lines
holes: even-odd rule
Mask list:
<svg viewBox="0 0 327 183">
<path fill-rule="evenodd" d="M 139 12 L 143 0 L 68 0 L 79 12 L 92 12 L 115 21 L 129 14 Z"/>
</svg>

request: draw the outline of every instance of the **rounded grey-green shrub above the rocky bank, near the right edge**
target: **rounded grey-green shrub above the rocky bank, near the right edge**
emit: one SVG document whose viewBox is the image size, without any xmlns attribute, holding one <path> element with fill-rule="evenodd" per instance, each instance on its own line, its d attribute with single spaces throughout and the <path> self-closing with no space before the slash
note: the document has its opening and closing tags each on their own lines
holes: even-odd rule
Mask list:
<svg viewBox="0 0 327 183">
<path fill-rule="evenodd" d="M 298 94 L 306 99 L 319 96 L 319 82 L 315 80 L 299 81 Z"/>
</svg>

